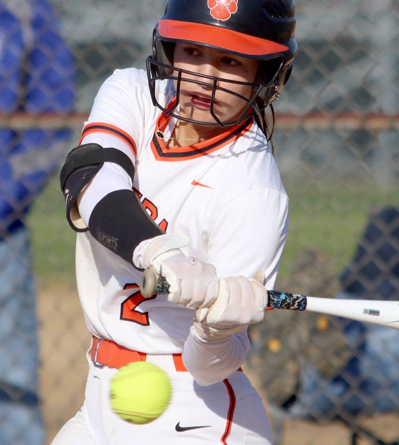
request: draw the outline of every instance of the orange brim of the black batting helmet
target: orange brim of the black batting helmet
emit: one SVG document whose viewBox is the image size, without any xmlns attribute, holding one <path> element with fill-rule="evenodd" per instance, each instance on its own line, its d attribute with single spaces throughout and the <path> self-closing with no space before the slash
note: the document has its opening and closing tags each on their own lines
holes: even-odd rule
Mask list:
<svg viewBox="0 0 399 445">
<path fill-rule="evenodd" d="M 161 36 L 192 41 L 240 54 L 262 56 L 287 51 L 288 46 L 253 35 L 204 23 L 162 19 L 158 21 Z M 222 46 L 220 46 L 222 42 Z"/>
</svg>

